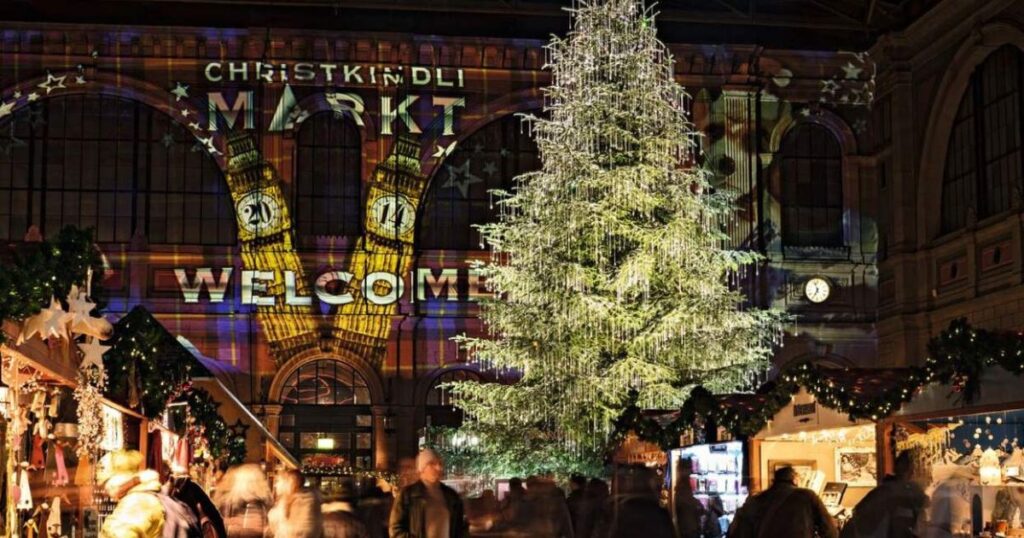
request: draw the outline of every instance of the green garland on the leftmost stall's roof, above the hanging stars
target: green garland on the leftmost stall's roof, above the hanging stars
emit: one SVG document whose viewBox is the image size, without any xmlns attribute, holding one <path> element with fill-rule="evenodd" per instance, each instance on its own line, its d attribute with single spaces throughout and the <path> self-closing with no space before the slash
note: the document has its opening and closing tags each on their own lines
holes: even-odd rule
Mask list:
<svg viewBox="0 0 1024 538">
<path fill-rule="evenodd" d="M 84 284 L 92 268 L 93 301 L 101 295 L 103 260 L 92 241 L 92 230 L 67 226 L 48 241 L 20 243 L 0 265 L 0 321 L 22 321 L 63 299 L 73 284 Z M 0 332 L 0 343 L 7 336 Z"/>
</svg>

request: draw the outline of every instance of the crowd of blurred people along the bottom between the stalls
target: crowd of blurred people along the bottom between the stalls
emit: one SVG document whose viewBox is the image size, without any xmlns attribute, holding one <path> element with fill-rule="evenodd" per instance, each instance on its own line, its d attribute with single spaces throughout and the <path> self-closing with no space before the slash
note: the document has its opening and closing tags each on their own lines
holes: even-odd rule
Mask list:
<svg viewBox="0 0 1024 538">
<path fill-rule="evenodd" d="M 101 538 L 910 538 L 928 498 L 910 480 L 909 459 L 856 507 L 842 535 L 814 492 L 797 486 L 793 468 L 752 496 L 727 532 L 721 500 L 697 500 L 677 480 L 670 507 L 657 473 L 615 469 L 609 485 L 572 477 L 569 492 L 552 480 L 512 479 L 503 499 L 485 491 L 464 501 L 443 484 L 444 464 L 431 450 L 416 459 L 418 480 L 396 496 L 376 489 L 358 498 L 342 488 L 330 498 L 304 486 L 296 470 L 270 481 L 258 465 L 228 469 L 212 498 L 183 472 L 160 477 L 138 452 L 100 461 L 97 479 L 117 501 Z M 681 469 L 686 478 L 685 467 Z M 271 487 L 272 484 L 272 487 Z"/>
</svg>

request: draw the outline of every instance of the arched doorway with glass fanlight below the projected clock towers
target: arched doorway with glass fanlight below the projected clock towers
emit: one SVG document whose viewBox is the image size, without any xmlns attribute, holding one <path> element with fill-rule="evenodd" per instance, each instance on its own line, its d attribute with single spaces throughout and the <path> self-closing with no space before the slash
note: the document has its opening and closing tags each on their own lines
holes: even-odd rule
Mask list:
<svg viewBox="0 0 1024 538">
<path fill-rule="evenodd" d="M 281 391 L 281 443 L 303 467 L 374 467 L 371 390 L 352 366 L 335 359 L 303 364 Z"/>
</svg>

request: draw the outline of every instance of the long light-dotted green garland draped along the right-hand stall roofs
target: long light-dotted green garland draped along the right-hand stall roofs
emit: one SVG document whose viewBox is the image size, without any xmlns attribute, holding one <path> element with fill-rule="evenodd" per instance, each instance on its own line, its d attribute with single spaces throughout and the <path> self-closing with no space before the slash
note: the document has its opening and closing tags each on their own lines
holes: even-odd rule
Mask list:
<svg viewBox="0 0 1024 538">
<path fill-rule="evenodd" d="M 679 437 L 687 429 L 706 425 L 724 427 L 735 438 L 748 438 L 763 429 L 802 387 L 821 405 L 847 414 L 851 420 L 879 420 L 899 410 L 930 383 L 951 384 L 956 403 L 969 405 L 981 391 L 985 368 L 998 365 L 1015 375 L 1024 373 L 1024 336 L 975 329 L 966 319 L 950 322 L 946 330 L 929 341 L 928 351 L 924 366 L 891 370 L 899 374 L 896 382 L 869 398 L 858 392 L 857 387 L 837 380 L 842 377 L 837 374 L 846 371 L 803 363 L 753 395 L 715 396 L 695 387 L 683 407 L 668 418 L 665 413 L 645 414 L 634 404 L 616 421 L 613 441 L 634 431 L 643 440 L 670 449 L 678 446 Z"/>
</svg>

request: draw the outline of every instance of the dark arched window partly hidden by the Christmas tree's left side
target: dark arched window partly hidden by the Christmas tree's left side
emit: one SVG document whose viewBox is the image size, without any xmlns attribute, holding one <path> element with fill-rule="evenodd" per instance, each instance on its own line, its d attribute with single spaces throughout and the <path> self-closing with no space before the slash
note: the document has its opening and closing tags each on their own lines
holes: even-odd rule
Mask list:
<svg viewBox="0 0 1024 538">
<path fill-rule="evenodd" d="M 537 143 L 515 115 L 459 142 L 430 182 L 420 217 L 420 248 L 479 249 L 480 234 L 473 224 L 497 218 L 488 191 L 511 190 L 517 175 L 540 166 Z"/>
</svg>

